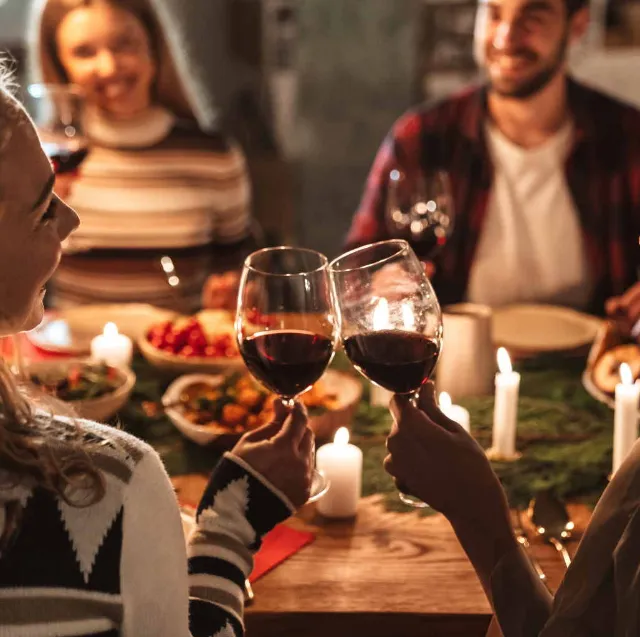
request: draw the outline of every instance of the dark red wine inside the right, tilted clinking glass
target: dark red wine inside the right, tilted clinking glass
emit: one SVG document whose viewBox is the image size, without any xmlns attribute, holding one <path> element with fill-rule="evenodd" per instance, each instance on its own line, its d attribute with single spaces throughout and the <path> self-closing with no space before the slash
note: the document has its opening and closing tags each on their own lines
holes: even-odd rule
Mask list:
<svg viewBox="0 0 640 637">
<path fill-rule="evenodd" d="M 440 354 L 437 340 L 402 330 L 356 334 L 345 339 L 344 349 L 360 373 L 395 394 L 417 392 Z"/>
</svg>

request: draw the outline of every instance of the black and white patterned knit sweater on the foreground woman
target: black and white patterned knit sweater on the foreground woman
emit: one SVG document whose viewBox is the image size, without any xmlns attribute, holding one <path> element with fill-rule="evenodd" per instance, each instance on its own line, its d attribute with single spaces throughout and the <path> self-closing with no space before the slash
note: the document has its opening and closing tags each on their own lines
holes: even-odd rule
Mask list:
<svg viewBox="0 0 640 637">
<path fill-rule="evenodd" d="M 185 549 L 157 453 L 106 425 L 80 425 L 100 443 L 91 455 L 106 481 L 101 502 L 73 508 L 24 481 L 0 490 L 0 504 L 22 511 L 0 556 L 0 637 L 243 635 L 252 553 L 291 504 L 226 454 Z"/>
</svg>

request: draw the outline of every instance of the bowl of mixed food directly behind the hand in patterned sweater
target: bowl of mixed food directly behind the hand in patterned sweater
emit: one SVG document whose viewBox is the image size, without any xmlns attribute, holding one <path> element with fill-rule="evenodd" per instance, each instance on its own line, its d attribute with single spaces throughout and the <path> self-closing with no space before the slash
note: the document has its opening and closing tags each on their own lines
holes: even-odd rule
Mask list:
<svg viewBox="0 0 640 637">
<path fill-rule="evenodd" d="M 362 385 L 353 376 L 329 370 L 300 396 L 319 439 L 349 426 L 361 393 Z M 171 422 L 193 442 L 230 448 L 247 431 L 271 421 L 276 398 L 247 372 L 189 374 L 167 388 L 162 404 Z"/>
</svg>

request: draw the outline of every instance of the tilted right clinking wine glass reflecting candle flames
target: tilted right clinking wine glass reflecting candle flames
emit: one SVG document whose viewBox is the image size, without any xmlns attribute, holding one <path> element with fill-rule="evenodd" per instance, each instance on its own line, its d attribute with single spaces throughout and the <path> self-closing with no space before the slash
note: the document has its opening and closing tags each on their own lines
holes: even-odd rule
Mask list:
<svg viewBox="0 0 640 637">
<path fill-rule="evenodd" d="M 376 385 L 416 401 L 442 345 L 440 304 L 416 254 L 404 240 L 380 241 L 334 259 L 329 274 L 353 365 Z"/>
</svg>

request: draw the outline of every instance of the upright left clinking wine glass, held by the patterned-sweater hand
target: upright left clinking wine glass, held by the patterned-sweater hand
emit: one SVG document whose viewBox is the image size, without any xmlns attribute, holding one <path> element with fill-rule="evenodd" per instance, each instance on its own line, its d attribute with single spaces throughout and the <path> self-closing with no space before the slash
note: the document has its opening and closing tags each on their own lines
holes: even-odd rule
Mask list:
<svg viewBox="0 0 640 637">
<path fill-rule="evenodd" d="M 251 374 L 289 409 L 324 374 L 338 336 L 323 254 L 280 246 L 247 257 L 238 291 L 238 348 Z M 327 488 L 314 470 L 310 501 Z"/>
</svg>

